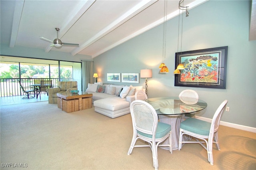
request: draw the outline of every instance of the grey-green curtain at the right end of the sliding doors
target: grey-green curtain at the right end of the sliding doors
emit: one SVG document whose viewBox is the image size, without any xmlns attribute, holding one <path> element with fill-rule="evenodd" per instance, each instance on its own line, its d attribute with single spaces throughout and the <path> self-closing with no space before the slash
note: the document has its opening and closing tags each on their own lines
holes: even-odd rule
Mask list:
<svg viewBox="0 0 256 170">
<path fill-rule="evenodd" d="M 85 92 L 88 83 L 93 82 L 93 62 L 92 61 L 82 61 L 82 77 L 83 77 L 82 91 Z"/>
</svg>

